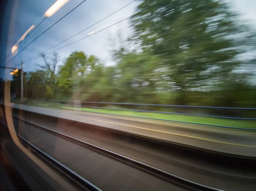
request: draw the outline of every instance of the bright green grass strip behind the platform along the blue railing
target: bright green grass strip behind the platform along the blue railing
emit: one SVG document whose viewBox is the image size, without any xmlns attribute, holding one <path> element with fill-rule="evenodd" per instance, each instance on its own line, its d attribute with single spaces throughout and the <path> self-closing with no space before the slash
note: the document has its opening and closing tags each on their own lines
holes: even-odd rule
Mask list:
<svg viewBox="0 0 256 191">
<path fill-rule="evenodd" d="M 136 117 L 148 117 L 159 120 L 174 120 L 174 121 L 183 121 L 189 123 L 201 123 L 207 125 L 219 125 L 227 127 L 236 127 L 236 128 L 251 128 L 256 129 L 256 120 L 232 120 L 232 119 L 221 119 L 216 117 L 201 117 L 201 116 L 189 116 L 189 115 L 179 115 L 179 114 L 159 114 L 159 113 L 148 113 L 141 111 L 123 111 L 123 110 L 114 110 L 114 109 L 102 109 L 102 108 L 79 108 L 66 105 L 52 105 L 46 103 L 37 103 L 32 105 L 44 106 L 44 107 L 56 107 L 56 108 L 67 108 L 75 109 L 82 111 L 93 111 L 101 112 L 107 114 L 118 114 L 118 115 L 128 115 Z"/>
</svg>

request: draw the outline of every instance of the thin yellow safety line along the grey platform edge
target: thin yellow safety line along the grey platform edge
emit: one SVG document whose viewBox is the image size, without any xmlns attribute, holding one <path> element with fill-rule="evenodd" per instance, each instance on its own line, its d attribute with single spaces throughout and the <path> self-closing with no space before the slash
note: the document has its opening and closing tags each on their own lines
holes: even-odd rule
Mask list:
<svg viewBox="0 0 256 191">
<path fill-rule="evenodd" d="M 139 129 L 144 129 L 144 130 L 148 130 L 148 131 L 155 131 L 155 132 L 160 132 L 160 133 L 178 135 L 178 136 L 181 136 L 181 137 L 189 137 L 189 138 L 205 140 L 205 141 L 210 141 L 210 142 L 215 142 L 215 143 L 223 143 L 223 144 L 227 144 L 227 145 L 236 145 L 236 146 L 244 146 L 244 147 L 256 148 L 256 145 L 242 145 L 242 144 L 237 144 L 237 143 L 228 143 L 228 142 L 211 140 L 211 139 L 205 139 L 205 138 L 201 138 L 201 137 L 194 137 L 194 136 L 189 136 L 189 135 L 184 135 L 184 134 L 171 133 L 171 132 L 167 132 L 167 131 L 159 131 L 159 130 L 155 130 L 155 129 L 137 127 L 137 126 L 133 126 L 133 125 L 125 125 L 125 124 L 122 124 L 122 123 L 113 123 L 113 122 L 109 122 L 109 121 L 95 120 L 95 119 L 91 119 L 91 118 L 87 118 L 87 117 L 79 117 L 79 116 L 68 115 L 68 114 L 61 114 L 61 115 L 67 115 L 67 116 L 70 116 L 70 117 L 78 117 L 78 118 L 82 118 L 82 119 L 86 119 L 86 120 L 94 120 L 94 121 L 99 121 L 99 122 L 104 122 L 104 123 L 111 123 L 111 124 L 122 125 L 122 126 L 127 126 L 127 127 L 139 128 Z"/>
</svg>

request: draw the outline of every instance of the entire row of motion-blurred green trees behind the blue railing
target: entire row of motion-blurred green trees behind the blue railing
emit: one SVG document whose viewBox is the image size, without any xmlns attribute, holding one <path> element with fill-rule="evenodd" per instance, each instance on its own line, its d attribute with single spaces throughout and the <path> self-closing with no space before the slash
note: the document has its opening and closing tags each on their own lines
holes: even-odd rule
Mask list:
<svg viewBox="0 0 256 191">
<path fill-rule="evenodd" d="M 256 87 L 248 80 L 256 59 L 241 59 L 255 50 L 256 35 L 223 1 L 141 2 L 137 11 L 146 10 L 131 19 L 134 31 L 126 42 L 134 49 L 120 42 L 111 52 L 115 66 L 82 51 L 72 52 L 63 64 L 57 53 L 42 55 L 44 65 L 26 76 L 26 97 L 256 106 Z"/>
</svg>

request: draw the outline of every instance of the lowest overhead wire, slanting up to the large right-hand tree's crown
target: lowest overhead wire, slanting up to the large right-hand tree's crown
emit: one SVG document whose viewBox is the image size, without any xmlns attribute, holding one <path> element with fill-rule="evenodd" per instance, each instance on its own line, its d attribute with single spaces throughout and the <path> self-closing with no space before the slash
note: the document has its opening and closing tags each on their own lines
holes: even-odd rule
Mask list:
<svg viewBox="0 0 256 191">
<path fill-rule="evenodd" d="M 154 4 L 154 5 L 152 5 L 152 6 L 148 7 L 148 8 L 146 8 L 146 9 L 143 9 L 143 10 L 140 11 L 140 12 L 137 12 L 136 14 L 131 15 L 130 17 L 126 17 L 126 18 L 123 19 L 123 20 L 120 20 L 120 21 L 118 21 L 118 22 L 116 22 L 116 23 L 114 23 L 114 24 L 112 24 L 112 25 L 110 25 L 110 26 L 107 26 L 107 27 L 105 27 L 104 29 L 101 29 L 101 30 L 99 30 L 99 31 L 96 31 L 96 32 L 94 32 L 93 34 L 87 35 L 86 37 L 83 37 L 83 38 L 81 38 L 81 39 L 79 39 L 79 40 L 76 40 L 76 41 L 74 41 L 73 43 L 69 43 L 69 44 L 67 44 L 67 45 L 65 45 L 65 46 L 62 46 L 62 47 L 60 47 L 60 48 L 57 48 L 57 49 L 55 49 L 55 50 L 53 50 L 53 51 L 47 52 L 46 54 L 50 54 L 50 53 L 55 52 L 55 51 L 57 51 L 57 50 L 59 50 L 59 49 L 61 49 L 61 48 L 65 48 L 65 47 L 67 47 L 67 46 L 70 46 L 70 45 L 72 45 L 72 44 L 74 44 L 74 43 L 79 42 L 80 40 L 83 40 L 83 39 L 85 39 L 85 38 L 87 38 L 87 37 L 90 37 L 90 36 L 92 36 L 92 35 L 94 35 L 94 34 L 97 34 L 97 33 L 101 32 L 101 31 L 104 31 L 105 29 L 108 29 L 108 28 L 110 28 L 110 27 L 112 27 L 112 26 L 114 26 L 114 25 L 116 25 L 116 24 L 118 24 L 118 23 L 121 23 L 121 22 L 123 22 L 123 21 L 125 21 L 125 20 L 127 20 L 127 19 L 130 19 L 131 17 L 134 17 L 134 16 L 136 16 L 137 14 L 140 14 L 140 13 L 142 13 L 142 12 L 144 12 L 144 11 L 146 11 L 146 10 L 148 10 L 148 9 L 150 9 L 150 8 L 152 8 L 152 7 L 154 7 L 154 6 L 157 6 L 158 4 L 162 3 L 163 1 L 165 1 L 165 0 L 162 0 L 162 1 L 160 1 L 160 2 L 158 2 L 158 3 L 156 3 L 156 4 Z M 42 53 L 44 53 L 44 52 L 42 52 Z M 40 54 L 42 54 L 42 53 L 40 53 Z M 27 60 L 27 61 L 24 62 L 24 63 L 28 63 L 28 62 L 30 62 L 30 61 L 32 61 L 32 60 L 37 59 L 37 58 L 39 58 L 39 57 L 33 58 L 33 59 L 31 59 L 31 60 Z"/>
</svg>

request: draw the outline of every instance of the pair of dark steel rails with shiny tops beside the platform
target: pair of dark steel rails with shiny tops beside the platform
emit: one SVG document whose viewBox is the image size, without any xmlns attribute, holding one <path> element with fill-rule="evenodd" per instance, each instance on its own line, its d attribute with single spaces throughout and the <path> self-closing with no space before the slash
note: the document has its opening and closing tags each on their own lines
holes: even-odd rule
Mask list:
<svg viewBox="0 0 256 191">
<path fill-rule="evenodd" d="M 199 190 L 200 191 L 220 191 L 220 189 L 212 188 L 212 187 L 209 187 L 209 186 L 206 186 L 206 185 L 199 184 L 197 182 L 192 182 L 190 180 L 186 180 L 186 179 L 184 179 L 182 177 L 178 177 L 178 176 L 176 176 L 174 174 L 168 173 L 168 172 L 160 170 L 158 168 L 154 168 L 153 166 L 150 166 L 150 165 L 144 164 L 142 162 L 139 162 L 137 160 L 133 160 L 131 158 L 122 156 L 122 155 L 117 154 L 117 153 L 115 153 L 113 151 L 109 151 L 109 150 L 107 150 L 105 148 L 101 148 L 99 146 L 87 143 L 85 141 L 76 139 L 74 137 L 70 137 L 67 134 L 63 134 L 63 133 L 60 133 L 58 131 L 54 131 L 52 129 L 46 128 L 44 126 L 41 126 L 41 125 L 38 125 L 38 124 L 35 124 L 35 123 L 32 123 L 32 122 L 29 122 L 27 120 L 21 119 L 21 118 L 16 117 L 16 116 L 13 116 L 13 117 L 15 119 L 17 119 L 17 120 L 22 121 L 23 123 L 26 123 L 26 124 L 28 124 L 30 126 L 33 126 L 33 127 L 37 128 L 37 129 L 39 129 L 41 131 L 44 131 L 44 132 L 47 132 L 47 133 L 52 134 L 54 136 L 60 137 L 62 139 L 65 139 L 65 140 L 67 140 L 69 142 L 72 142 L 72 143 L 75 143 L 77 145 L 81 145 L 84 148 L 87 148 L 87 149 L 90 149 L 91 151 L 94 151 L 94 152 L 97 152 L 99 154 L 105 155 L 106 157 L 109 157 L 109 158 L 111 158 L 113 160 L 122 162 L 122 163 L 124 163 L 126 165 L 129 165 L 132 168 L 137 168 L 140 171 L 144 171 L 144 172 L 146 172 L 148 174 L 151 174 L 154 177 L 157 177 L 157 178 L 160 178 L 160 179 L 162 179 L 164 181 L 167 181 L 167 182 L 170 182 L 172 184 L 178 185 L 179 187 L 182 187 L 182 188 L 185 188 L 185 189 L 188 189 L 188 190 L 193 190 L 193 191 L 199 191 Z M 23 141 L 27 142 L 20 135 L 19 135 L 19 137 Z M 33 145 L 32 143 L 28 142 L 27 144 L 29 144 L 34 150 L 37 150 L 37 152 L 39 152 L 40 154 L 47 155 L 45 152 L 41 151 L 39 148 L 36 148 L 35 145 Z M 47 157 L 49 157 L 49 155 Z M 51 160 L 55 160 L 55 159 L 53 159 L 51 157 Z M 65 168 L 64 165 L 62 165 L 60 162 L 55 160 L 55 163 L 56 162 L 59 163 L 58 165 L 61 165 L 62 168 Z M 66 169 L 66 171 L 67 171 L 67 169 Z M 70 174 L 70 172 L 69 172 L 69 174 Z M 73 174 L 73 176 L 74 176 L 74 173 L 71 173 L 71 174 Z M 79 177 L 80 177 L 79 175 L 76 175 L 75 177 L 76 177 L 76 179 L 79 180 L 78 182 L 80 182 L 81 185 L 84 184 L 84 179 L 82 177 L 80 179 L 79 179 Z M 85 182 L 86 182 L 86 180 L 85 180 Z M 85 185 L 87 185 L 87 184 L 88 184 L 88 182 Z M 95 188 L 97 188 L 97 187 L 95 186 Z M 95 188 L 93 188 L 93 189 L 95 189 Z"/>
</svg>

